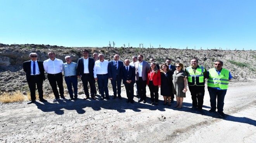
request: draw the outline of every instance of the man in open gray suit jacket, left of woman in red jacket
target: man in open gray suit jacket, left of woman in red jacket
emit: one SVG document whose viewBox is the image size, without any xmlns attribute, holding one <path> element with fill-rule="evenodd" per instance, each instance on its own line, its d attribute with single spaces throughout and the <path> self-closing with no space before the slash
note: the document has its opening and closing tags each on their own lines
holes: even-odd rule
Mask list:
<svg viewBox="0 0 256 143">
<path fill-rule="evenodd" d="M 135 63 L 136 84 L 139 99 L 138 102 L 146 103 L 146 86 L 147 86 L 147 72 L 149 71 L 149 63 L 143 61 L 143 56 L 138 55 L 138 62 Z"/>
</svg>

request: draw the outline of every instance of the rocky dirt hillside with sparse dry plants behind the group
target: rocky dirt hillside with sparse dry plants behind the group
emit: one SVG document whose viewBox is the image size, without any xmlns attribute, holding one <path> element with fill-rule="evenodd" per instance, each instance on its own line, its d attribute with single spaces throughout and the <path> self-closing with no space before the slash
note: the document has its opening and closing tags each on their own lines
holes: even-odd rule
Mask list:
<svg viewBox="0 0 256 143">
<path fill-rule="evenodd" d="M 50 45 L 7 45 L 0 44 L 0 92 L 12 92 L 20 90 L 22 93 L 29 91 L 26 83 L 26 75 L 22 69 L 22 63 L 29 60 L 29 53 L 38 54 L 38 60 L 44 61 L 48 59 L 47 53 L 54 51 L 56 57 L 63 60 L 66 55 L 71 55 L 73 61 L 77 62 L 80 58 L 81 51 L 87 49 L 92 53 L 103 53 L 106 60 L 113 60 L 114 54 L 120 55 L 120 60 L 130 59 L 133 55 L 142 54 L 144 60 L 149 61 L 154 57 L 157 63 L 162 64 L 166 58 L 171 58 L 172 63 L 181 62 L 184 66 L 190 66 L 191 58 L 198 58 L 199 65 L 205 66 L 208 70 L 213 68 L 214 60 L 222 60 L 224 68 L 230 70 L 233 80 L 246 81 L 247 78 L 256 78 L 256 51 L 230 51 L 222 49 L 194 50 L 194 49 L 164 49 L 164 48 L 92 48 L 92 47 L 63 47 Z M 229 60 L 229 61 L 228 61 Z M 242 62 L 246 65 L 237 66 L 234 62 Z M 66 84 L 64 83 L 64 86 Z M 79 80 L 79 90 L 83 93 L 82 83 Z M 48 80 L 45 80 L 43 90 L 46 95 L 50 94 L 51 88 Z M 111 87 L 111 86 L 110 86 Z M 67 90 L 66 90 L 67 93 Z"/>
</svg>

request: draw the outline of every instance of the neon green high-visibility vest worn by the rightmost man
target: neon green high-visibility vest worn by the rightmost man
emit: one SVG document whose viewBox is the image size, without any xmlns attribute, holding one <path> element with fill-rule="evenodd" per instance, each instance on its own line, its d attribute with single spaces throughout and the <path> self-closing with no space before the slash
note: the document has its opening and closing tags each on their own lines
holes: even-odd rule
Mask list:
<svg viewBox="0 0 256 143">
<path fill-rule="evenodd" d="M 229 71 L 222 68 L 220 75 L 216 72 L 215 68 L 209 70 L 209 78 L 207 81 L 208 87 L 219 87 L 220 89 L 228 89 Z"/>
</svg>

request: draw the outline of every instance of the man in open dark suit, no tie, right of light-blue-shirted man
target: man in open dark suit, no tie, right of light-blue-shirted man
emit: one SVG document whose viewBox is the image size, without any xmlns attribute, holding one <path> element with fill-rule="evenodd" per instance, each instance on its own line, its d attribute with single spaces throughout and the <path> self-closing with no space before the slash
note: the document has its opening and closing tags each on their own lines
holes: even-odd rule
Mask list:
<svg viewBox="0 0 256 143">
<path fill-rule="evenodd" d="M 88 57 L 89 52 L 87 50 L 83 50 L 82 52 L 83 57 L 79 58 L 77 61 L 77 68 L 76 68 L 76 76 L 78 78 L 81 78 L 83 82 L 83 90 L 85 91 L 86 97 L 83 100 L 88 99 L 89 96 L 89 90 L 88 90 L 88 82 L 90 84 L 90 92 L 91 97 L 93 100 L 95 100 L 95 80 L 93 77 L 93 67 L 94 67 L 94 59 Z"/>
</svg>

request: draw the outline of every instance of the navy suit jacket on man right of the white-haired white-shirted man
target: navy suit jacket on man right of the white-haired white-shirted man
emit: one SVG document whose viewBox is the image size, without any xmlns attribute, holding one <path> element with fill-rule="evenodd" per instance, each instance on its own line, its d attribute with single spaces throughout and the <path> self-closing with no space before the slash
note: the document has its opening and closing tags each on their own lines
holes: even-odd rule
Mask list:
<svg viewBox="0 0 256 143">
<path fill-rule="evenodd" d="M 116 62 L 114 60 L 109 61 L 109 65 L 107 66 L 107 73 L 109 78 L 113 78 L 116 80 L 116 77 L 121 79 L 121 68 L 124 66 L 123 61 L 118 61 L 118 69 L 116 69 Z"/>
</svg>

